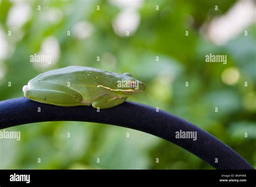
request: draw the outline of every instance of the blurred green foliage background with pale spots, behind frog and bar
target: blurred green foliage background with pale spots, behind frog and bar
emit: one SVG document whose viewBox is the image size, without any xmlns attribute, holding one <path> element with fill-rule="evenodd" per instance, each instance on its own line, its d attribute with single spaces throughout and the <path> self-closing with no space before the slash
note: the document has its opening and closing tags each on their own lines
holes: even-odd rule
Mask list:
<svg viewBox="0 0 256 187">
<path fill-rule="evenodd" d="M 0 100 L 22 97 L 23 85 L 51 69 L 129 72 L 146 84 L 129 100 L 191 121 L 256 167 L 255 1 L 0 2 Z M 210 53 L 227 64 L 206 63 Z M 51 63 L 31 62 L 34 54 Z M 1 139 L 0 169 L 213 169 L 123 127 L 58 121 L 6 130 L 21 131 L 21 141 Z"/>
</svg>

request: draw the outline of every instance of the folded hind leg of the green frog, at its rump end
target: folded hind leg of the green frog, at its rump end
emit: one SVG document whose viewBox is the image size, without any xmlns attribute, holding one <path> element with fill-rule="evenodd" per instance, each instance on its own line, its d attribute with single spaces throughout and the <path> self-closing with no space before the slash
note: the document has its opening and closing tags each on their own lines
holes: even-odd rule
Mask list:
<svg viewBox="0 0 256 187">
<path fill-rule="evenodd" d="M 29 89 L 24 90 L 24 96 L 36 102 L 57 106 L 83 105 L 82 95 L 69 87 L 49 81 L 31 83 Z"/>
</svg>

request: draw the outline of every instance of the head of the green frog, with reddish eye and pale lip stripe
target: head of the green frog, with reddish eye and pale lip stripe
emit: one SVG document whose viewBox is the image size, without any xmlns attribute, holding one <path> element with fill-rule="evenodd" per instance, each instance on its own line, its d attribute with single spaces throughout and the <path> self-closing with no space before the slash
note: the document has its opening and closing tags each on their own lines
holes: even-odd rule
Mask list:
<svg viewBox="0 0 256 187">
<path fill-rule="evenodd" d="M 145 90 L 145 84 L 129 73 L 119 74 L 116 82 L 116 89 L 112 90 L 114 95 L 119 97 L 129 97 L 142 93 Z"/>
</svg>

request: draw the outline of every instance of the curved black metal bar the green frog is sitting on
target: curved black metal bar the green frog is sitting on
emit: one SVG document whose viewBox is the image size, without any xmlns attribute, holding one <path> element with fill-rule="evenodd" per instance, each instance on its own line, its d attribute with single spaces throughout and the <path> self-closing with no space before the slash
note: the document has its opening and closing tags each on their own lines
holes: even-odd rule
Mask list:
<svg viewBox="0 0 256 187">
<path fill-rule="evenodd" d="M 41 112 L 38 112 L 38 107 Z M 42 121 L 89 121 L 133 128 L 173 142 L 216 169 L 254 169 L 212 134 L 171 113 L 162 110 L 157 112 L 151 106 L 125 102 L 97 112 L 89 106 L 60 107 L 34 102 L 25 97 L 0 102 L 0 129 Z M 180 130 L 197 132 L 197 140 L 176 138 L 176 132 Z"/>
</svg>

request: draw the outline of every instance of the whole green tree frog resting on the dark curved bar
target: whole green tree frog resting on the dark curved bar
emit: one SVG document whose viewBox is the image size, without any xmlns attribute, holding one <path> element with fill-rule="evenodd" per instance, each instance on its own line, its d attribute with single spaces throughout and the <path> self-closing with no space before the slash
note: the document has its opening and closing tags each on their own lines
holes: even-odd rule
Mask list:
<svg viewBox="0 0 256 187">
<path fill-rule="evenodd" d="M 69 66 L 47 71 L 24 85 L 24 96 L 36 102 L 57 106 L 92 105 L 108 109 L 142 93 L 145 85 L 129 73 Z"/>
</svg>

